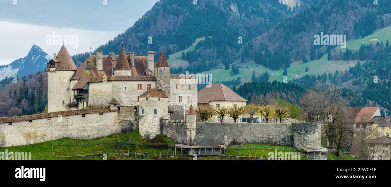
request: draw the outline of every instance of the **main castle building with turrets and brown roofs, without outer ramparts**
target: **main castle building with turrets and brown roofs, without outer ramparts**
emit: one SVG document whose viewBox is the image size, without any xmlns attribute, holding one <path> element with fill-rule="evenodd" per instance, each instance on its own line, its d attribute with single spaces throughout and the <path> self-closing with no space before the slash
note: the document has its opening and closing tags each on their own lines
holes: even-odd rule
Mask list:
<svg viewBox="0 0 391 187">
<path fill-rule="evenodd" d="M 76 68 L 65 46 L 47 62 L 48 112 L 115 105 L 139 114 L 132 123 L 143 137 L 160 134 L 160 119 L 186 119 L 191 104 L 197 106 L 197 84 L 181 84 L 170 74 L 163 50 L 154 63 L 154 52 L 135 56 L 122 47 L 119 55 L 98 50 Z M 138 124 L 137 124 L 138 123 Z"/>
</svg>

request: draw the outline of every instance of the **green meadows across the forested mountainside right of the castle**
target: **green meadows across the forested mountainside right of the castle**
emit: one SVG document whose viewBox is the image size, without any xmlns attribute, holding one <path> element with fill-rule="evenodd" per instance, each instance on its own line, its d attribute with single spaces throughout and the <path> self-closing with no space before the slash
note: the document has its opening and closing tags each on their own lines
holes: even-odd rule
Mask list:
<svg viewBox="0 0 391 187">
<path fill-rule="evenodd" d="M 366 36 L 365 38 L 360 39 L 354 39 L 354 40 L 348 40 L 346 47 L 348 49 L 352 50 L 358 50 L 361 46 L 361 44 L 369 44 L 371 43 L 371 39 L 378 39 L 380 42 L 383 40 L 385 43 L 386 40 L 391 41 L 391 26 L 378 29 L 373 34 Z M 374 43 L 376 44 L 376 42 Z M 346 49 L 341 49 L 340 47 L 335 48 L 336 51 L 344 51 Z M 303 77 L 305 75 L 322 75 L 324 73 L 333 73 L 335 70 L 345 70 L 349 67 L 353 67 L 357 64 L 357 60 L 351 60 L 351 61 L 343 61 L 343 60 L 327 60 L 327 54 L 325 54 L 321 59 L 315 59 L 313 61 L 308 61 L 307 63 L 303 63 L 303 61 L 294 61 L 291 64 L 291 67 L 287 68 L 288 71 L 288 81 L 292 79 L 297 79 L 300 77 Z M 269 68 L 265 68 L 262 65 L 257 65 L 254 61 L 250 61 L 243 64 L 237 64 L 235 66 L 242 67 L 239 69 L 240 74 L 231 76 L 230 70 L 224 70 L 217 69 L 213 71 L 203 72 L 212 74 L 212 81 L 230 81 L 237 79 L 240 77 L 242 79 L 242 82 L 251 81 L 253 70 L 255 70 L 256 76 L 260 73 L 264 73 L 267 71 L 270 71 L 271 73 L 275 75 L 271 75 L 269 78 L 269 81 L 283 81 L 283 70 L 271 70 Z M 308 67 L 309 71 L 305 72 L 305 68 Z"/>
</svg>

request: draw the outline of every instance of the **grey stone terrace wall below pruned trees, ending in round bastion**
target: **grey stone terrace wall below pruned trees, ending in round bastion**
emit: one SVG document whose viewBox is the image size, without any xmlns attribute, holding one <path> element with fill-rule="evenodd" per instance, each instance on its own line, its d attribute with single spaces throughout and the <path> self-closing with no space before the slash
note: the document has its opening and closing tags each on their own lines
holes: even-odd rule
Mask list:
<svg viewBox="0 0 391 187">
<path fill-rule="evenodd" d="M 183 144 L 269 144 L 288 147 L 321 147 L 320 124 L 317 123 L 197 123 L 194 134 L 187 137 L 185 123 L 162 121 L 162 134 Z M 188 131 L 186 129 L 186 131 Z"/>
</svg>

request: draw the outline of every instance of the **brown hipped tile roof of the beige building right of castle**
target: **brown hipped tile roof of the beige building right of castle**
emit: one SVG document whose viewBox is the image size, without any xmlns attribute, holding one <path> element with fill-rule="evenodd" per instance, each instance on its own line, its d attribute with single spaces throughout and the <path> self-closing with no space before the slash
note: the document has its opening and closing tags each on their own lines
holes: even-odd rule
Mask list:
<svg viewBox="0 0 391 187">
<path fill-rule="evenodd" d="M 208 103 L 209 101 L 247 101 L 239 94 L 233 92 L 222 83 L 212 83 L 208 88 L 205 86 L 198 91 L 198 103 Z"/>
</svg>

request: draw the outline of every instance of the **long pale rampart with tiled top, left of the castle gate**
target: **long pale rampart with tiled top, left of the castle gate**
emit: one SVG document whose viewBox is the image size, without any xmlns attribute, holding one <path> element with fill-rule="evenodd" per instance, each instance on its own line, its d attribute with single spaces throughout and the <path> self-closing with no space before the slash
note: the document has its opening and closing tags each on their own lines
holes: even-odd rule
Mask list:
<svg viewBox="0 0 391 187">
<path fill-rule="evenodd" d="M 120 111 L 86 113 L 61 117 L 0 123 L 0 147 L 21 146 L 60 138 L 94 139 L 129 133 L 136 116 L 131 107 Z M 133 112 L 134 113 L 134 112 Z M 124 116 L 127 118 L 124 118 Z M 138 123 L 138 121 L 137 121 Z"/>
</svg>

